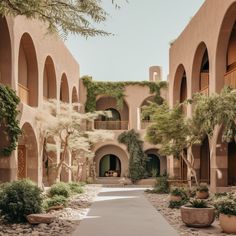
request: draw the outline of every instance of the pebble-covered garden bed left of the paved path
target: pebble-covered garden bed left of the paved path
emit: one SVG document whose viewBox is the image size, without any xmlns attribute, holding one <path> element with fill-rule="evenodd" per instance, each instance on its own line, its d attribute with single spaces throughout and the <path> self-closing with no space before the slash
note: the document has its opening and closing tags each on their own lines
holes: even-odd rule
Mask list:
<svg viewBox="0 0 236 236">
<path fill-rule="evenodd" d="M 70 234 L 87 215 L 88 209 L 100 189 L 93 185 L 87 185 L 84 188 L 84 193 L 71 197 L 68 207 L 49 212 L 49 214 L 58 217 L 51 224 L 7 224 L 3 219 L 0 219 L 0 236 L 62 236 Z"/>
</svg>

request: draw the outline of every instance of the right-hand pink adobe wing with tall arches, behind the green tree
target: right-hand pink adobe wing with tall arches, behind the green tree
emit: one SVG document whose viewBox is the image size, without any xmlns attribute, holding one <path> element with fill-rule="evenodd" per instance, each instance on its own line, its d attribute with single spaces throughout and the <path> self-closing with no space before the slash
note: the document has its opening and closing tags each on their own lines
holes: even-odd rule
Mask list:
<svg viewBox="0 0 236 236">
<path fill-rule="evenodd" d="M 194 93 L 219 93 L 224 85 L 236 88 L 236 1 L 206 0 L 170 47 L 169 103 L 173 106 Z M 192 107 L 186 115 L 191 117 Z M 223 143 L 221 133 L 210 160 L 209 142 L 195 146 L 195 168 L 213 191 L 236 185 L 236 144 Z M 187 167 L 170 160 L 170 174 L 187 178 Z"/>
</svg>

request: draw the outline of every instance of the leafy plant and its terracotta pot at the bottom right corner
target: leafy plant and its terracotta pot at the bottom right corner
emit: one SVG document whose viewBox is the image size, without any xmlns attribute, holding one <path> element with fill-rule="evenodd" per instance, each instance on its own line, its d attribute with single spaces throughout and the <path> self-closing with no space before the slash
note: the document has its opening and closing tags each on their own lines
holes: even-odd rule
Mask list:
<svg viewBox="0 0 236 236">
<path fill-rule="evenodd" d="M 215 206 L 222 230 L 228 234 L 236 234 L 236 199 L 221 197 L 215 202 Z"/>
</svg>

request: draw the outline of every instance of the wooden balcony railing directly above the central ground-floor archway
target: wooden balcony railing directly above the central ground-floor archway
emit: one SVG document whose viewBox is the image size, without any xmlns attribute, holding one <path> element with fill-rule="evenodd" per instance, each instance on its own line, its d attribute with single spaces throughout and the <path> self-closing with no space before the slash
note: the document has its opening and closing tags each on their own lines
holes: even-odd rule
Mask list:
<svg viewBox="0 0 236 236">
<path fill-rule="evenodd" d="M 128 130 L 128 121 L 100 121 L 94 122 L 95 129 L 106 129 L 106 130 Z"/>
</svg>

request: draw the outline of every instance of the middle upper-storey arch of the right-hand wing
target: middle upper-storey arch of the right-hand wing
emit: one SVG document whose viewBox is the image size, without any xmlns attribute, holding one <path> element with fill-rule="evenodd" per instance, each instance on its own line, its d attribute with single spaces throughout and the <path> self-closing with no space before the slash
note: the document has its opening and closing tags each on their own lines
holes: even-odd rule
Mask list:
<svg viewBox="0 0 236 236">
<path fill-rule="evenodd" d="M 192 71 L 192 94 L 209 94 L 209 57 L 206 44 L 201 42 L 196 50 Z"/>
</svg>

